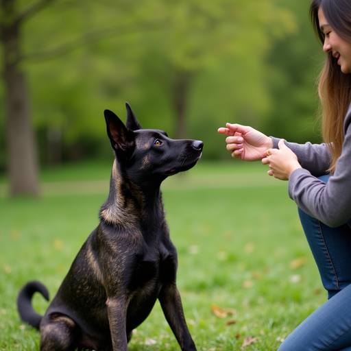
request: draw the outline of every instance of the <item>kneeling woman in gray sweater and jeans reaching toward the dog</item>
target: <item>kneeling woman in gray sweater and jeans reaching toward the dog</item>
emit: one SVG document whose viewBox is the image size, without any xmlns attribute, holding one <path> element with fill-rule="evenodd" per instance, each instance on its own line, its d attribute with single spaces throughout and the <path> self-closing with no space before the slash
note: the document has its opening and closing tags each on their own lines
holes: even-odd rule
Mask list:
<svg viewBox="0 0 351 351">
<path fill-rule="evenodd" d="M 313 0 L 310 14 L 327 56 L 319 82 L 325 143 L 287 143 L 230 123 L 219 133 L 234 158 L 262 160 L 269 175 L 289 180 L 328 291 L 279 350 L 351 351 L 351 1 Z"/>
</svg>

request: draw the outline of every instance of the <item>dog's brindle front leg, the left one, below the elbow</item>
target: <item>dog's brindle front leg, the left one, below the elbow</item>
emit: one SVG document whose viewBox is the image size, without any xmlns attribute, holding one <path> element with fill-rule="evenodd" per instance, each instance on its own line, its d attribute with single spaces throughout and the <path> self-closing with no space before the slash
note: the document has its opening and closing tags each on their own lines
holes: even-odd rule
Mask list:
<svg viewBox="0 0 351 351">
<path fill-rule="evenodd" d="M 106 301 L 108 322 L 114 351 L 128 351 L 126 322 L 126 303 L 123 298 L 108 298 Z"/>
</svg>

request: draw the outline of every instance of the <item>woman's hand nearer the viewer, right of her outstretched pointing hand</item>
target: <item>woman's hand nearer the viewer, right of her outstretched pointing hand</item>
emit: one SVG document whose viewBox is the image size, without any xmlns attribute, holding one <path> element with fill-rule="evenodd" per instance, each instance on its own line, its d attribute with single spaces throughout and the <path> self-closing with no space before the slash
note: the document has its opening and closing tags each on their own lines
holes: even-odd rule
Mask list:
<svg viewBox="0 0 351 351">
<path fill-rule="evenodd" d="M 262 163 L 263 165 L 269 165 L 270 170 L 267 172 L 269 175 L 273 175 L 274 178 L 280 180 L 289 180 L 291 173 L 302 167 L 298 162 L 298 156 L 285 145 L 284 139 L 280 139 L 278 147 L 279 149 L 267 150 Z"/>
</svg>

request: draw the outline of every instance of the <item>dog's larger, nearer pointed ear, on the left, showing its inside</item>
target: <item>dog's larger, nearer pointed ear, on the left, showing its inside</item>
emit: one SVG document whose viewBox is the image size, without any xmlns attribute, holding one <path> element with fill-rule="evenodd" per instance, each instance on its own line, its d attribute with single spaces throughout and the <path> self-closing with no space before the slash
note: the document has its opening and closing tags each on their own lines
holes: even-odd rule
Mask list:
<svg viewBox="0 0 351 351">
<path fill-rule="evenodd" d="M 107 134 L 114 151 L 126 151 L 134 145 L 134 133 L 125 127 L 124 123 L 110 110 L 104 110 Z"/>
</svg>

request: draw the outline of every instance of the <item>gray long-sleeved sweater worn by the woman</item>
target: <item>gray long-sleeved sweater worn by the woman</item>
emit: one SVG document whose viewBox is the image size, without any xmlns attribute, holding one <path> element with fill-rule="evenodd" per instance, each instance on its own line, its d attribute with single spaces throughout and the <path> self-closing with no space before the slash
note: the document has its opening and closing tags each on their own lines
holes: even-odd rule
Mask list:
<svg viewBox="0 0 351 351">
<path fill-rule="evenodd" d="M 331 155 L 326 144 L 285 142 L 302 166 L 290 175 L 289 196 L 305 213 L 330 227 L 341 226 L 351 219 L 351 105 L 343 131 L 341 156 L 328 183 L 316 178 L 326 174 L 330 166 Z M 278 148 L 279 140 L 273 138 L 274 148 Z"/>
</svg>

